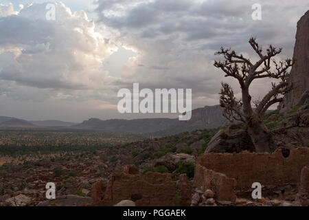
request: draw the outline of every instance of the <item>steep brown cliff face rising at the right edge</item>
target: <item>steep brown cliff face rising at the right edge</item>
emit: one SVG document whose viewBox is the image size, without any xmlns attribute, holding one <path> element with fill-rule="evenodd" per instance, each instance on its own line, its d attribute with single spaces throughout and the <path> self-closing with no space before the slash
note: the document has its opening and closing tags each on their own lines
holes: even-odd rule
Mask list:
<svg viewBox="0 0 309 220">
<path fill-rule="evenodd" d="M 291 70 L 290 82 L 293 91 L 286 94 L 279 108 L 287 111 L 297 105 L 302 94 L 309 90 L 309 10 L 297 23 L 297 34 L 294 47 L 295 65 Z"/>
</svg>

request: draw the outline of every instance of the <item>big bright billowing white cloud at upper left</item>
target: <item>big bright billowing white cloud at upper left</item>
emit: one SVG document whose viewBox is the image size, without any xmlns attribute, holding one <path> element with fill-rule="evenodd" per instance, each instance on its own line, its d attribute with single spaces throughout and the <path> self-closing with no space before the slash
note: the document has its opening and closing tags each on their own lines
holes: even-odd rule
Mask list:
<svg viewBox="0 0 309 220">
<path fill-rule="evenodd" d="M 106 82 L 108 85 L 111 79 L 102 72 L 102 61 L 115 45 L 95 32 L 94 22 L 85 12 L 72 14 L 65 5 L 56 3 L 56 21 L 47 21 L 45 5 L 34 4 L 17 16 L 0 18 L 0 28 L 5 30 L 0 33 L 0 48 L 11 51 L 0 79 L 50 89 L 100 89 Z"/>
</svg>

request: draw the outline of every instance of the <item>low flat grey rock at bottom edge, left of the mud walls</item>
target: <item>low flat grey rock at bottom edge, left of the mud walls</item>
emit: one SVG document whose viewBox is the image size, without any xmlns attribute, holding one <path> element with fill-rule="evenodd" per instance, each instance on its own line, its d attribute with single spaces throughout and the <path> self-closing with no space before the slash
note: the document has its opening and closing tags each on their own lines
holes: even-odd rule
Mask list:
<svg viewBox="0 0 309 220">
<path fill-rule="evenodd" d="M 65 195 L 56 199 L 41 201 L 37 206 L 84 206 L 91 203 L 91 197 Z"/>
</svg>

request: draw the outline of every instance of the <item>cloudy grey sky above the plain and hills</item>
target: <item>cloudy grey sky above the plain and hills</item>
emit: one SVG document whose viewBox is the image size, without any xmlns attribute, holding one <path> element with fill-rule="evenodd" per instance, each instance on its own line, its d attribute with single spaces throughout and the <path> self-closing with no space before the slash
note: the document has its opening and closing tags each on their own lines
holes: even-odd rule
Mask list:
<svg viewBox="0 0 309 220">
<path fill-rule="evenodd" d="M 56 20 L 46 19 L 47 3 Z M 262 5 L 253 21 L 252 5 Z M 25 120 L 140 118 L 117 113 L 117 91 L 192 89 L 193 107 L 218 104 L 214 52 L 232 47 L 252 60 L 248 40 L 293 56 L 308 0 L 0 0 L 0 115 Z M 269 89 L 256 81 L 253 98 Z M 238 94 L 239 96 L 239 94 Z M 147 115 L 149 117 L 149 115 Z M 157 116 L 157 115 L 156 115 Z"/>
</svg>

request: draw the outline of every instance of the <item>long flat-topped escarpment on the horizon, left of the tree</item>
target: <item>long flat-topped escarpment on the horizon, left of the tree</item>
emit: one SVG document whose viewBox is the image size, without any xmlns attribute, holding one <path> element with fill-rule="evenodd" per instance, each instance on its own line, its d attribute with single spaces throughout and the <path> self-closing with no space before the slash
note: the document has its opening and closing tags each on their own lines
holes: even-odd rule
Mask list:
<svg viewBox="0 0 309 220">
<path fill-rule="evenodd" d="M 70 126 L 72 129 L 89 129 L 95 131 L 114 131 L 130 133 L 179 133 L 196 129 L 211 129 L 222 126 L 226 119 L 222 116 L 219 105 L 206 106 L 192 111 L 189 121 L 179 121 L 178 118 L 146 118 L 134 120 L 100 120 L 91 118 L 80 124 Z"/>
</svg>

